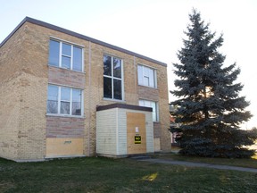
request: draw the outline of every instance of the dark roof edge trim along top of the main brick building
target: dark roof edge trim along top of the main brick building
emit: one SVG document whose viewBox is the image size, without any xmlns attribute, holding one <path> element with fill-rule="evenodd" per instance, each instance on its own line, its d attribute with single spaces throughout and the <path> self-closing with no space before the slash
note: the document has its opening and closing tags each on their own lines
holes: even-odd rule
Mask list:
<svg viewBox="0 0 257 193">
<path fill-rule="evenodd" d="M 19 25 L 18 25 L 15 29 L 13 29 L 12 32 L 11 32 L 6 38 L 4 38 L 4 40 L 3 40 L 3 41 L 1 42 L 1 44 L 0 44 L 0 47 L 1 47 L 1 46 L 4 46 L 4 44 L 8 41 L 8 39 L 11 38 L 12 35 L 13 35 L 18 29 L 20 29 L 21 26 L 22 26 L 25 22 L 30 22 L 30 23 L 33 23 L 33 24 L 36 24 L 36 25 L 39 25 L 39 26 L 42 26 L 42 27 L 45 27 L 45 28 L 48 28 L 48 29 L 54 29 L 54 30 L 56 30 L 56 31 L 60 31 L 60 32 L 62 32 L 62 33 L 68 34 L 68 35 L 70 35 L 70 36 L 73 36 L 73 37 L 76 37 L 76 38 L 82 38 L 82 39 L 85 39 L 85 40 L 90 41 L 90 42 L 92 42 L 92 43 L 95 43 L 95 44 L 97 44 L 97 45 L 106 46 L 106 47 L 109 47 L 109 48 L 111 48 L 111 49 L 120 51 L 120 52 L 122 52 L 122 53 L 125 53 L 125 54 L 128 54 L 128 55 L 133 55 L 133 56 L 136 56 L 136 57 L 138 57 L 138 58 L 147 60 L 147 61 L 149 61 L 149 62 L 157 63 L 157 64 L 160 64 L 160 65 L 162 65 L 162 66 L 167 67 L 167 63 L 162 63 L 162 62 L 160 62 L 160 61 L 157 61 L 157 60 L 154 60 L 154 59 L 152 59 L 152 58 L 149 58 L 149 57 L 147 57 L 147 56 L 145 56 L 145 55 L 139 55 L 139 54 L 137 54 L 137 53 L 135 53 L 135 52 L 131 52 L 131 51 L 127 50 L 127 49 L 123 49 L 123 48 L 121 48 L 121 47 L 119 47 L 119 46 L 113 46 L 113 45 L 111 45 L 111 44 L 108 44 L 108 43 L 105 43 L 105 42 L 103 42 L 103 41 L 97 40 L 97 39 L 95 39 L 95 38 L 90 38 L 90 37 L 84 36 L 84 35 L 82 35 L 82 34 L 79 34 L 79 33 L 77 33 L 77 32 L 71 31 L 71 30 L 69 30 L 69 29 L 63 29 L 63 28 L 58 27 L 58 26 L 55 26 L 55 25 L 53 25 L 53 24 L 50 24 L 50 23 L 47 23 L 47 22 L 44 22 L 44 21 L 38 21 L 38 20 L 35 20 L 35 19 L 33 19 L 33 18 L 30 18 L 30 17 L 25 17 L 25 18 L 19 23 Z"/>
</svg>

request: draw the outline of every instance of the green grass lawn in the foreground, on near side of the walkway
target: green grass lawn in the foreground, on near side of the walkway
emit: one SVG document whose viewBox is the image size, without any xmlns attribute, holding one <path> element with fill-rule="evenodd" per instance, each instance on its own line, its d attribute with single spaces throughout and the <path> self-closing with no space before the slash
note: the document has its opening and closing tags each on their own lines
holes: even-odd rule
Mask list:
<svg viewBox="0 0 257 193">
<path fill-rule="evenodd" d="M 253 172 L 103 157 L 14 163 L 0 159 L 0 192 L 256 192 Z"/>
</svg>

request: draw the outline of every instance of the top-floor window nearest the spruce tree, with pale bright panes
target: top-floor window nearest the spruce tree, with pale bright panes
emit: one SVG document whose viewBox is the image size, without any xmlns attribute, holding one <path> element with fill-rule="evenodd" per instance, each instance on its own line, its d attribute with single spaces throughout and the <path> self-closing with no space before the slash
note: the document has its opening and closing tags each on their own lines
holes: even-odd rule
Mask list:
<svg viewBox="0 0 257 193">
<path fill-rule="evenodd" d="M 157 88 L 156 71 L 144 65 L 137 66 L 138 85 Z"/>
</svg>

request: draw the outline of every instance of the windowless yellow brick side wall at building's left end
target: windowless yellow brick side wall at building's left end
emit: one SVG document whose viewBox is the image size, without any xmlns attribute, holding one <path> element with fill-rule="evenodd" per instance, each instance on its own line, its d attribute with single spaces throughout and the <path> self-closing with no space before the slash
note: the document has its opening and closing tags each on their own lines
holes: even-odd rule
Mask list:
<svg viewBox="0 0 257 193">
<path fill-rule="evenodd" d="M 21 60 L 26 28 L 22 27 L 0 48 L 0 156 L 18 156 Z"/>
</svg>

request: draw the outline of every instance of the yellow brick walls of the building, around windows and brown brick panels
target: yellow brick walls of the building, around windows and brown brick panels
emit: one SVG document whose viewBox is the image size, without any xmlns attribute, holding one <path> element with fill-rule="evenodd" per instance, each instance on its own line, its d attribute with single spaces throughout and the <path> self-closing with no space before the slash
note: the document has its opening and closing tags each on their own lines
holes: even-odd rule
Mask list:
<svg viewBox="0 0 257 193">
<path fill-rule="evenodd" d="M 157 69 L 158 89 L 153 90 L 152 97 L 159 96 L 161 148 L 170 150 L 166 67 L 26 22 L 0 48 L 0 125 L 4 125 L 0 126 L 0 134 L 5 133 L 4 136 L 0 135 L 0 156 L 16 160 L 44 159 L 46 156 L 46 100 L 48 71 L 51 68 L 48 66 L 50 37 L 84 46 L 84 155 L 95 155 L 95 107 L 117 103 L 104 100 L 103 55 L 117 56 L 123 61 L 125 101 L 122 103 L 125 104 L 138 105 L 138 99 L 142 95 L 137 85 L 137 63 Z M 8 101 L 8 98 L 10 102 L 3 102 Z"/>
</svg>

